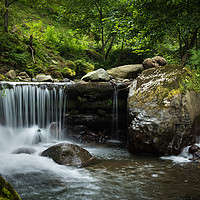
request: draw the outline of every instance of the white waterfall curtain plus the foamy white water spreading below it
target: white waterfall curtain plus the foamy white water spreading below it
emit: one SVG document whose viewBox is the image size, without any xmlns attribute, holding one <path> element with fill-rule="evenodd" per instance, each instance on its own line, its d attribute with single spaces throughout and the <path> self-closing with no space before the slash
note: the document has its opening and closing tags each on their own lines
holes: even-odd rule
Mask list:
<svg viewBox="0 0 200 200">
<path fill-rule="evenodd" d="M 24 181 L 35 185 L 35 176 L 39 182 L 62 182 L 61 186 L 51 190 L 62 190 L 68 182 L 79 183 L 80 180 L 87 182 L 88 187 L 96 188 L 92 186 L 95 179 L 87 170 L 58 165 L 52 159 L 40 156 L 48 147 L 64 139 L 66 94 L 63 85 L 47 89 L 45 85 L 13 84 L 10 89 L 1 91 L 0 96 L 0 174 L 3 177 L 11 182 L 14 180 L 15 186 L 27 187 L 27 190 L 31 189 Z M 51 124 L 56 127 L 53 133 Z M 33 153 L 14 153 L 23 148 Z M 37 196 L 37 191 L 31 192 Z M 22 199 L 28 193 L 22 193 Z"/>
</svg>

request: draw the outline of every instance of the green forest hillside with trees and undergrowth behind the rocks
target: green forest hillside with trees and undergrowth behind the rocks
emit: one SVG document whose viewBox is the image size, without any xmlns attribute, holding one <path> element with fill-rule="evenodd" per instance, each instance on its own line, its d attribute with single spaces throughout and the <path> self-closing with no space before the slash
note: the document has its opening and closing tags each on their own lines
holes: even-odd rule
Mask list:
<svg viewBox="0 0 200 200">
<path fill-rule="evenodd" d="M 1 0 L 0 15 L 0 74 L 79 79 L 160 55 L 200 92 L 199 1 Z"/>
</svg>

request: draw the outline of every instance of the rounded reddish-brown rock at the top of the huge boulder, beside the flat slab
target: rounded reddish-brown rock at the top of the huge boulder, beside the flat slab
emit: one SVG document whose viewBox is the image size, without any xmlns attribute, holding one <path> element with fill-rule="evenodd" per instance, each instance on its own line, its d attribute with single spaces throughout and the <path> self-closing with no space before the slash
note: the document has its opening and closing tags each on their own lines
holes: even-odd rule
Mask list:
<svg viewBox="0 0 200 200">
<path fill-rule="evenodd" d="M 161 56 L 155 56 L 153 58 L 146 58 L 142 65 L 144 69 L 149 69 L 158 66 L 164 66 L 167 64 L 167 61 Z"/>
</svg>

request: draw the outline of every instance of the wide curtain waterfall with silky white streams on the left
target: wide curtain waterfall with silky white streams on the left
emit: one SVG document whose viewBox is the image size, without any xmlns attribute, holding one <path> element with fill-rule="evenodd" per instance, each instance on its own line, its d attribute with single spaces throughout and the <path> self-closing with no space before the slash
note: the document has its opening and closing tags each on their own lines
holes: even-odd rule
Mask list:
<svg viewBox="0 0 200 200">
<path fill-rule="evenodd" d="M 67 97 L 63 84 L 8 86 L 1 85 L 0 91 L 0 145 L 11 137 L 22 143 L 62 139 Z"/>
</svg>

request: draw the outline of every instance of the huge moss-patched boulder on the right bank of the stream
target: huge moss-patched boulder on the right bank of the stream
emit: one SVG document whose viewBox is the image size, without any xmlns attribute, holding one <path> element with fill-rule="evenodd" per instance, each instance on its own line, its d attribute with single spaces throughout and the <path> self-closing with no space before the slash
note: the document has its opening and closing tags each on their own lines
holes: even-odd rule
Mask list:
<svg viewBox="0 0 200 200">
<path fill-rule="evenodd" d="M 200 135 L 200 94 L 181 93 L 184 70 L 151 68 L 132 83 L 128 96 L 131 152 L 179 154 Z"/>
</svg>

